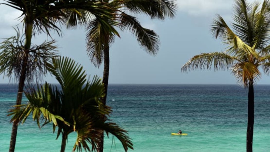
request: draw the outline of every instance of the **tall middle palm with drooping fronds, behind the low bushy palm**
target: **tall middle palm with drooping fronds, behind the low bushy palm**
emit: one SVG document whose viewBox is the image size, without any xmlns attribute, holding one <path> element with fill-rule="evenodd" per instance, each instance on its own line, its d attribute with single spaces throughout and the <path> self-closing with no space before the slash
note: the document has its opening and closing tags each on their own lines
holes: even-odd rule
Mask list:
<svg viewBox="0 0 270 152">
<path fill-rule="evenodd" d="M 136 37 L 140 45 L 151 55 L 156 55 L 159 48 L 158 35 L 151 29 L 143 28 L 136 17 L 127 14 L 131 13 L 145 13 L 152 19 L 157 18 L 163 20 L 165 17 L 173 17 L 176 11 L 176 2 L 174 0 L 138 0 L 138 1 L 103 1 L 107 3 L 110 8 L 115 8 L 115 21 L 112 26 L 119 27 L 122 31 L 128 29 Z M 89 22 L 89 18 L 85 17 L 85 12 L 69 11 L 69 16 L 66 19 L 68 27 L 76 25 L 83 25 Z M 104 63 L 103 80 L 105 87 L 105 96 L 102 102 L 106 104 L 107 88 L 109 82 L 109 50 L 110 45 L 114 42 L 115 36 L 119 36 L 116 30 L 112 30 L 104 26 L 102 22 L 97 19 L 91 20 L 87 25 L 86 43 L 87 54 L 90 61 L 97 67 Z M 103 138 L 101 140 L 102 147 L 98 151 L 103 151 Z"/>
</svg>

